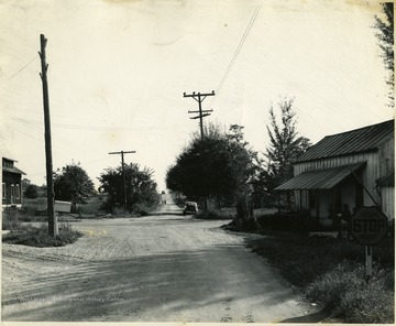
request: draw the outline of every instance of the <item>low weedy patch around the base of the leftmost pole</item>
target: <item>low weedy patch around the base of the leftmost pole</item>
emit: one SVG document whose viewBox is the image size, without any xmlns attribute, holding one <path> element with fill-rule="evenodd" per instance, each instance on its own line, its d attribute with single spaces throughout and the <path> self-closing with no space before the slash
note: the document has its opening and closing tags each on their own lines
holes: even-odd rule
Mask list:
<svg viewBox="0 0 396 326">
<path fill-rule="evenodd" d="M 55 237 L 48 235 L 47 225 L 41 227 L 20 226 L 3 237 L 3 242 L 12 244 L 24 244 L 31 247 L 62 247 L 75 242 L 82 236 L 81 232 L 73 230 L 72 226 L 62 224 L 59 233 Z"/>
</svg>

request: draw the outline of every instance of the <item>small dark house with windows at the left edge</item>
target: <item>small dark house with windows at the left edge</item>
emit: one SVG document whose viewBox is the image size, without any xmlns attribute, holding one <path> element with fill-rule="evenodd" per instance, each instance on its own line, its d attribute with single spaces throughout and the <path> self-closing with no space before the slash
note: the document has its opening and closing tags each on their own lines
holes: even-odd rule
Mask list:
<svg viewBox="0 0 396 326">
<path fill-rule="evenodd" d="M 2 207 L 22 205 L 22 175 L 25 173 L 15 166 L 15 162 L 2 157 Z"/>
</svg>

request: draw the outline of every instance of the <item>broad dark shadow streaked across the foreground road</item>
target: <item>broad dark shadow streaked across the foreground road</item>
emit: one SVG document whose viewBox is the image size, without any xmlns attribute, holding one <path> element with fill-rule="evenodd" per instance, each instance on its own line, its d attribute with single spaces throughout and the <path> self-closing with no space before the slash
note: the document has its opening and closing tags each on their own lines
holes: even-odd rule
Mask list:
<svg viewBox="0 0 396 326">
<path fill-rule="evenodd" d="M 230 254 L 224 256 L 224 250 Z M 265 275 L 255 279 L 252 287 L 256 271 L 241 278 L 251 260 L 241 254 L 235 265 L 233 256 L 240 251 L 240 247 L 218 246 L 212 250 L 75 263 L 62 273 L 36 278 L 33 290 L 21 286 L 2 302 L 2 319 L 84 322 L 109 316 L 111 320 L 166 322 L 185 311 L 201 309 L 202 315 L 207 307 L 218 308 L 230 298 L 254 302 L 265 309 L 289 300 L 290 294 Z M 300 323 L 298 318 L 284 322 Z"/>
</svg>

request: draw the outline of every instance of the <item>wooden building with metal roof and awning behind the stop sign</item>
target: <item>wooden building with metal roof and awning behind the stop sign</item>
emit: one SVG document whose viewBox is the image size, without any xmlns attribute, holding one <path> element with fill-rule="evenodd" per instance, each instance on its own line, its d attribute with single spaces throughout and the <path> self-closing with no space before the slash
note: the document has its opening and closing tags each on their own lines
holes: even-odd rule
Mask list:
<svg viewBox="0 0 396 326">
<path fill-rule="evenodd" d="M 294 177 L 276 191 L 323 225 L 345 210 L 378 206 L 395 218 L 394 120 L 327 135 L 294 162 Z"/>
</svg>

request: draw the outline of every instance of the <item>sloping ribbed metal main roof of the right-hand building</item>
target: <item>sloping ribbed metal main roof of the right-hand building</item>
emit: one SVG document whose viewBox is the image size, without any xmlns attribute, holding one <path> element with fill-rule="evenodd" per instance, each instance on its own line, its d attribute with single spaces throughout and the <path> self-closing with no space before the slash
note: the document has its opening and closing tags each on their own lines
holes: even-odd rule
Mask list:
<svg viewBox="0 0 396 326">
<path fill-rule="evenodd" d="M 394 120 L 324 137 L 294 163 L 376 151 L 395 134 Z"/>
</svg>

